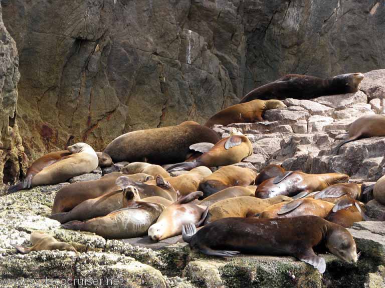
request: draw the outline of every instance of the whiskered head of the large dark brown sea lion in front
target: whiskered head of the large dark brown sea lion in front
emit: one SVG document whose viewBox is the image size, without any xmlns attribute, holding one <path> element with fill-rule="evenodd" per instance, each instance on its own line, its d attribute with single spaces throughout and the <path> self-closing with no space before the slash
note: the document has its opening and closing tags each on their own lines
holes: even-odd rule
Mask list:
<svg viewBox="0 0 385 288">
<path fill-rule="evenodd" d="M 328 229 L 326 247 L 341 259 L 355 263 L 358 260 L 357 248 L 352 235 L 344 227 L 334 224 L 331 231 Z"/>
</svg>

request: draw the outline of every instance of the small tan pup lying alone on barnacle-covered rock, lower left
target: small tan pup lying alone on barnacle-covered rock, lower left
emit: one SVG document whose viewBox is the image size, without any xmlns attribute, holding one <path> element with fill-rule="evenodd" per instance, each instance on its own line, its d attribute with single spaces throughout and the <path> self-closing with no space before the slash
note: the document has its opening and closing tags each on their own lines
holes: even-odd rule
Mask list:
<svg viewBox="0 0 385 288">
<path fill-rule="evenodd" d="M 40 251 L 40 250 L 66 250 L 66 251 L 73 251 L 75 253 L 78 253 L 76 249 L 66 243 L 66 242 L 60 242 L 56 240 L 53 236 L 47 235 L 44 232 L 41 231 L 34 231 L 31 233 L 30 236 L 30 242 L 32 243 L 31 247 L 22 247 L 19 245 L 12 244 L 19 252 L 23 254 L 27 254 L 31 251 Z"/>
</svg>

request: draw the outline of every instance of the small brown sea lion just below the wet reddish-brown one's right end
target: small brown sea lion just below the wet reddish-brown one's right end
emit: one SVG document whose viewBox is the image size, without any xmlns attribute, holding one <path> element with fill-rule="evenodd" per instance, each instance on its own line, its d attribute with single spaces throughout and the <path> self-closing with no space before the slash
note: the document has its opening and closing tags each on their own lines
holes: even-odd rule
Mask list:
<svg viewBox="0 0 385 288">
<path fill-rule="evenodd" d="M 338 183 L 330 185 L 324 188 L 323 190 L 317 192 L 301 192 L 293 196 L 293 199 L 300 199 L 306 197 L 336 203 L 342 198 L 358 199 L 360 194 L 360 185 L 357 185 L 356 183 Z"/>
</svg>

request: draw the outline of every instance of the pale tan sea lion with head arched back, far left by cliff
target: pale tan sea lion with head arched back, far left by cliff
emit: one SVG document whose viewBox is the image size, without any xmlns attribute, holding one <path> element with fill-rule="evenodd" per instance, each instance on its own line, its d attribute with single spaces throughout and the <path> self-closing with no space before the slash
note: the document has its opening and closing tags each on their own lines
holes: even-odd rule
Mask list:
<svg viewBox="0 0 385 288">
<path fill-rule="evenodd" d="M 68 146 L 67 149 L 71 152 L 70 155 L 56 159 L 52 164 L 45 166 L 32 178 L 28 177 L 25 181 L 11 186 L 8 189 L 8 193 L 14 193 L 37 185 L 65 182 L 69 178 L 89 173 L 97 168 L 99 163 L 98 156 L 90 145 L 78 142 L 72 146 Z M 38 159 L 38 162 L 42 163 L 43 161 Z"/>
</svg>

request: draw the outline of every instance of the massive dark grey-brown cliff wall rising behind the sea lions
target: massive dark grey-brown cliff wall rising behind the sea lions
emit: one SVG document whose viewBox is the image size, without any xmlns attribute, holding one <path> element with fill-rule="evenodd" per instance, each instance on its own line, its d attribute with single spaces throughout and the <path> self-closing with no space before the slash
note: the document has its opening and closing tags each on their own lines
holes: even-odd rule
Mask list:
<svg viewBox="0 0 385 288">
<path fill-rule="evenodd" d="M 134 129 L 203 122 L 285 73 L 383 66 L 382 2 L 3 0 L 31 158 Z"/>
</svg>

